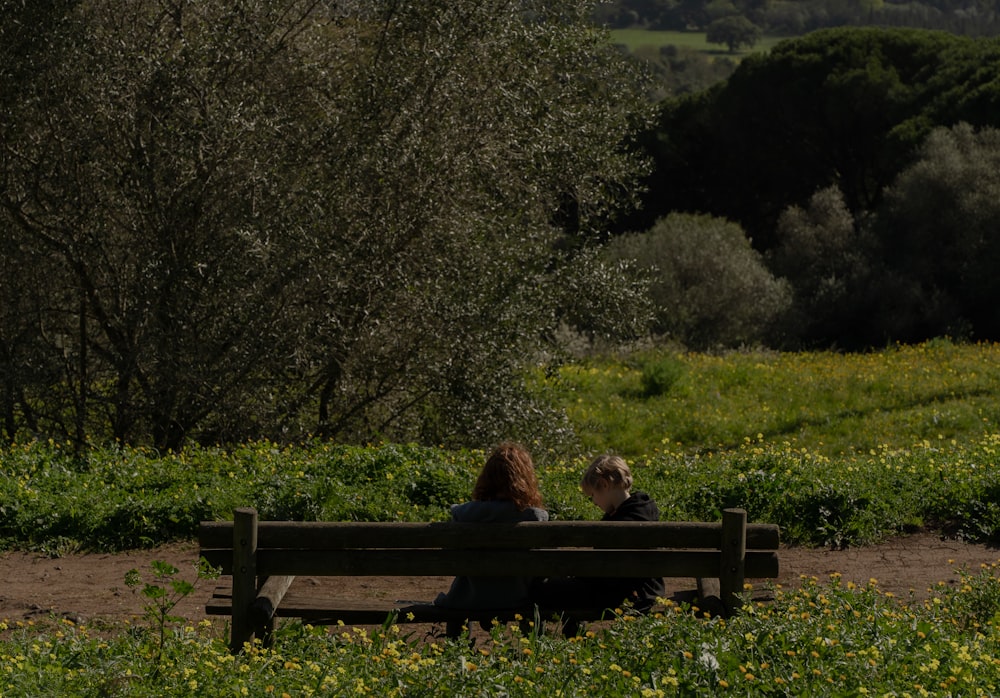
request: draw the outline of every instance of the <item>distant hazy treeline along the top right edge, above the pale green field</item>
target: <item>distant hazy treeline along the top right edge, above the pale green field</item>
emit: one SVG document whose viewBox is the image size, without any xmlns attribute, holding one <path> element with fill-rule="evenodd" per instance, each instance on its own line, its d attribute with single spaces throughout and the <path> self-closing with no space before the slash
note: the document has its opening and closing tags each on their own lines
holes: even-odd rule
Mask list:
<svg viewBox="0 0 1000 698">
<path fill-rule="evenodd" d="M 866 25 L 967 36 L 1000 32 L 1000 12 L 993 0 L 617 0 L 601 3 L 596 17 L 613 28 L 674 31 L 708 31 L 713 24 L 741 17 L 779 36 Z"/>
</svg>

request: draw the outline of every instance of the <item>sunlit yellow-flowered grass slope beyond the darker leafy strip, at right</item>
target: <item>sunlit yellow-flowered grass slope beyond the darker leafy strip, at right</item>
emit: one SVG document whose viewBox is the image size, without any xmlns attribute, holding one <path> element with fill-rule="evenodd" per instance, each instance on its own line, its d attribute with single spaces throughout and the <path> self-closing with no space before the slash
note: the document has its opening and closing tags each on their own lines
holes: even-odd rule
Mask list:
<svg viewBox="0 0 1000 698">
<path fill-rule="evenodd" d="M 669 368 L 668 389 L 643 376 Z M 1000 345 L 935 341 L 868 354 L 640 353 L 548 381 L 584 450 L 631 458 L 748 441 L 829 457 L 1000 433 Z"/>
</svg>

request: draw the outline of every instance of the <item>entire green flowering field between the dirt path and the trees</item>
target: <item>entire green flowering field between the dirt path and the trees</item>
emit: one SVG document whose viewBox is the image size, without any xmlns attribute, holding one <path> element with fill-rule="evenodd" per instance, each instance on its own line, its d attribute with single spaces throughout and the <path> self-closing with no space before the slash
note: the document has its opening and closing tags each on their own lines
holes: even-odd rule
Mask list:
<svg viewBox="0 0 1000 698">
<path fill-rule="evenodd" d="M 642 353 L 537 376 L 580 450 L 532 443 L 554 518 L 595 518 L 594 454 L 632 464 L 663 517 L 740 506 L 802 545 L 913 528 L 1000 542 L 1000 346 L 937 341 L 863 355 Z M 190 538 L 251 505 L 263 518 L 441 520 L 477 450 L 268 442 L 177 453 L 58 443 L 0 450 L 0 546 L 122 550 Z"/>
</svg>

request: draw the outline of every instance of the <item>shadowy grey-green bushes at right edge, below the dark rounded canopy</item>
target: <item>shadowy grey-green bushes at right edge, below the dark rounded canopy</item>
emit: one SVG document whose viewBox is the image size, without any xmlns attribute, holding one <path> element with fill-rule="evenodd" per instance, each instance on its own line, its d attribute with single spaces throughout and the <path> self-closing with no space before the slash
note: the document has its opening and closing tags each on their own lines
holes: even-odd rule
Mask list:
<svg viewBox="0 0 1000 698">
<path fill-rule="evenodd" d="M 786 336 L 848 347 L 998 336 L 998 133 L 936 129 L 884 203 L 857 220 L 836 187 L 786 209 L 766 256 L 794 290 Z"/>
</svg>

